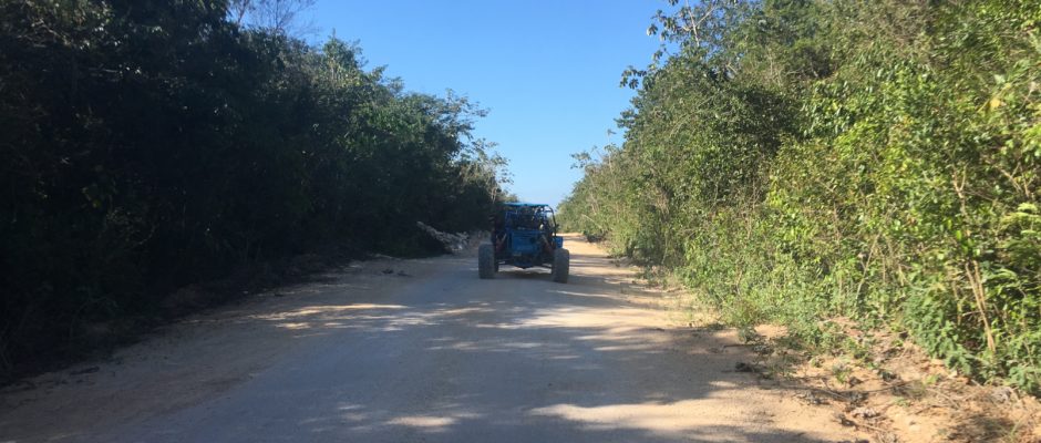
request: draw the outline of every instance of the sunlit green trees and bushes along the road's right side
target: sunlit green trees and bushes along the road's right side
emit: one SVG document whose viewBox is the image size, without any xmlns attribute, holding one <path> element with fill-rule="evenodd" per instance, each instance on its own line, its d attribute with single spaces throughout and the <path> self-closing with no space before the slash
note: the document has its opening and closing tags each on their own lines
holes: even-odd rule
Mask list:
<svg viewBox="0 0 1041 443">
<path fill-rule="evenodd" d="M 735 323 L 852 318 L 1041 384 L 1041 3 L 715 0 L 659 11 L 571 229 Z"/>
</svg>

